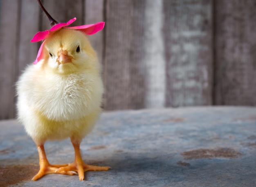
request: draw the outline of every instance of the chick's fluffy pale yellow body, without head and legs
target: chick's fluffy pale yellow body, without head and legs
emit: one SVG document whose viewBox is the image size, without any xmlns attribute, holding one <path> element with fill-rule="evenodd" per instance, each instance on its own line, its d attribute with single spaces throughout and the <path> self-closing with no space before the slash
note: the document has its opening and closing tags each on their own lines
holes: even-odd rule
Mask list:
<svg viewBox="0 0 256 187">
<path fill-rule="evenodd" d="M 36 77 L 31 79 L 34 73 Z M 49 75 L 33 65 L 18 85 L 19 119 L 38 143 L 72 136 L 83 138 L 101 111 L 100 78 L 81 73 Z"/>
</svg>

